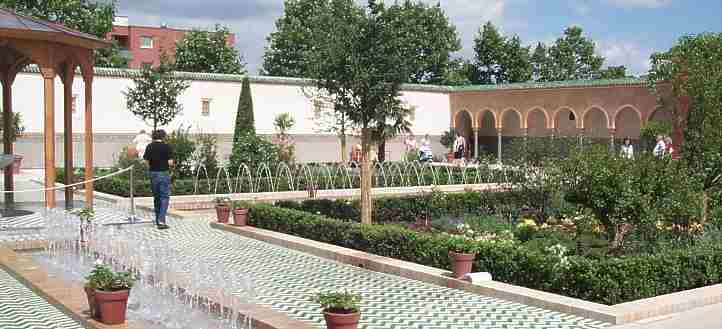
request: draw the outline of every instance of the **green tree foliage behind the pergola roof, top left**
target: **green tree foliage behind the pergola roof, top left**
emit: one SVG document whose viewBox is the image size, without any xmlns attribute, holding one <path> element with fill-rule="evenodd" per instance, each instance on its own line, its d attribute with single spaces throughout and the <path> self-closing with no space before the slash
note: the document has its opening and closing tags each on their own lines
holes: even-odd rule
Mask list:
<svg viewBox="0 0 722 329">
<path fill-rule="evenodd" d="M 62 24 L 71 29 L 92 34 L 98 38 L 113 30 L 115 1 L 90 0 L 0 0 L 0 6 L 27 16 Z M 106 67 L 127 67 L 128 60 L 113 46 L 99 49 L 95 53 L 95 65 Z"/>
</svg>

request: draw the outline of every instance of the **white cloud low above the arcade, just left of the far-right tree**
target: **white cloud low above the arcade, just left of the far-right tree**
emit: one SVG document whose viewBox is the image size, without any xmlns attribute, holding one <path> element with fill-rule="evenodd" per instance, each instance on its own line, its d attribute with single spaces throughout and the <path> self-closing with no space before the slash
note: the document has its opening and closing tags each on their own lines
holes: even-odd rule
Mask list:
<svg viewBox="0 0 722 329">
<path fill-rule="evenodd" d="M 634 75 L 647 74 L 649 56 L 654 52 L 637 42 L 625 40 L 603 40 L 597 43 L 599 54 L 606 58 L 606 65 L 624 65 L 627 73 Z"/>
</svg>

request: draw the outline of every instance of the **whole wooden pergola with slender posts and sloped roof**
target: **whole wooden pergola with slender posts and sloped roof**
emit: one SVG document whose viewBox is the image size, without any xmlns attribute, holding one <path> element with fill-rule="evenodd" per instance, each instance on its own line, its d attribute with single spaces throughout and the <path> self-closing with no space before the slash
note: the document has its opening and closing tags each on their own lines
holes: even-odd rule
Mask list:
<svg viewBox="0 0 722 329">
<path fill-rule="evenodd" d="M 79 67 L 85 82 L 85 179 L 93 177 L 93 53 L 110 44 L 92 35 L 62 25 L 19 15 L 0 8 L 0 80 L 3 89 L 3 151 L 13 154 L 12 85 L 27 65 L 35 64 L 43 77 L 45 187 L 55 185 L 55 77 L 63 82 L 65 181 L 73 179 L 73 80 Z M 11 170 L 5 170 L 5 190 L 14 190 Z M 93 184 L 85 184 L 88 206 L 93 204 Z M 65 200 L 72 204 L 72 188 L 66 188 Z M 5 193 L 6 205 L 14 201 Z M 55 208 L 55 191 L 45 191 L 45 206 Z"/>
</svg>

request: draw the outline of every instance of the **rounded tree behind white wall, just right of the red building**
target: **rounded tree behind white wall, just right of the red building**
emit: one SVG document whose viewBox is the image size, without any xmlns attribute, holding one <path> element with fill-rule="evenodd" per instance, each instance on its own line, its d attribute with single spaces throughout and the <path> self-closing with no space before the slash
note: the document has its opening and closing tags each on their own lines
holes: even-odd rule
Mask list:
<svg viewBox="0 0 722 329">
<path fill-rule="evenodd" d="M 238 50 L 228 43 L 231 32 L 216 25 L 213 31 L 193 30 L 176 44 L 176 70 L 244 74 L 245 64 Z"/>
</svg>

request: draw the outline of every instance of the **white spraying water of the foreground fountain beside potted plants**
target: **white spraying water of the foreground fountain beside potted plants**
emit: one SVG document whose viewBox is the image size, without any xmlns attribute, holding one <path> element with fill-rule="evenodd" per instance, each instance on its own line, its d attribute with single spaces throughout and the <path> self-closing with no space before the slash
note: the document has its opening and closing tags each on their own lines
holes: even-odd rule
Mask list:
<svg viewBox="0 0 722 329">
<path fill-rule="evenodd" d="M 79 242 L 79 222 L 65 211 L 46 212 L 47 246 L 33 257 L 49 273 L 84 282 L 97 263 L 135 273 L 128 320 L 144 328 L 251 328 L 252 319 L 238 310 L 255 302 L 253 278 L 232 276 L 220 259 L 201 262 L 164 240 L 140 239 L 137 226 L 93 225 Z"/>
</svg>

